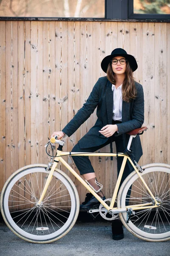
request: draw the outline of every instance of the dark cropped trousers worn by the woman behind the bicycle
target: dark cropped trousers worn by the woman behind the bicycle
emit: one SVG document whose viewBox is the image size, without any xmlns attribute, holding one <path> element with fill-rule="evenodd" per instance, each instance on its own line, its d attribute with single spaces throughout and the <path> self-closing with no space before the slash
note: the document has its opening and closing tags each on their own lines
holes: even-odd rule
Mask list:
<svg viewBox="0 0 170 256">
<path fill-rule="evenodd" d="M 106 145 L 108 145 L 108 144 L 110 144 L 114 141 L 116 143 L 116 152 L 117 153 L 122 153 L 123 150 L 125 149 L 125 147 L 123 145 L 122 135 L 117 136 L 117 137 L 113 135 L 108 139 L 108 141 L 106 143 L 104 143 L 102 145 L 99 145 L 99 146 L 94 146 L 94 147 L 91 147 L 91 148 L 80 148 L 79 143 L 77 143 L 74 146 L 74 148 L 72 149 L 72 152 L 94 152 L 94 151 L 99 150 L 100 148 L 105 147 Z M 88 156 L 74 156 L 73 155 L 72 158 L 73 158 L 74 163 L 76 164 L 76 166 L 77 166 L 77 168 L 80 172 L 80 175 L 94 172 L 94 168 L 91 165 L 91 161 L 90 161 Z M 120 172 L 120 168 L 122 166 L 122 161 L 123 161 L 123 157 L 117 157 L 117 172 L 118 172 L 118 175 L 119 175 L 119 172 Z M 129 168 L 129 165 L 128 165 L 128 163 L 126 163 L 120 186 L 121 186 L 122 182 L 125 180 L 125 178 L 130 174 L 130 172 L 131 172 L 131 170 Z"/>
</svg>

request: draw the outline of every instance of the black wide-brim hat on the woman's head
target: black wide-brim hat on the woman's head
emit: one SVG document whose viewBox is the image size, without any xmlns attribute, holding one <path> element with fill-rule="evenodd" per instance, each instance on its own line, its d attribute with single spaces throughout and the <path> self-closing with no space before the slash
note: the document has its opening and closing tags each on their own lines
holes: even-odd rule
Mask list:
<svg viewBox="0 0 170 256">
<path fill-rule="evenodd" d="M 129 62 L 132 71 L 134 72 L 135 70 L 137 70 L 138 64 L 136 62 L 136 59 L 132 55 L 127 54 L 127 52 L 124 49 L 116 48 L 111 52 L 111 55 L 106 56 L 102 60 L 101 67 L 105 73 L 107 73 L 109 62 L 116 56 L 125 57 L 125 59 Z"/>
</svg>

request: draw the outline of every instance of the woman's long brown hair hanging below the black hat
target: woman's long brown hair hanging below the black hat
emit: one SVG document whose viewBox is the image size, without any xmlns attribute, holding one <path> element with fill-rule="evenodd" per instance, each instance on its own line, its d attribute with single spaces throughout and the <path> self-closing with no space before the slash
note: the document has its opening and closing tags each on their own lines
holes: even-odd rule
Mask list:
<svg viewBox="0 0 170 256">
<path fill-rule="evenodd" d="M 107 78 L 111 82 L 111 84 L 116 84 L 116 79 L 112 70 L 111 62 L 108 64 Z M 137 92 L 135 87 L 135 81 L 133 79 L 133 71 L 130 67 L 129 62 L 127 61 L 127 67 L 125 70 L 125 80 L 122 84 L 122 99 L 125 102 L 130 102 L 131 99 L 136 98 L 136 93 Z"/>
</svg>

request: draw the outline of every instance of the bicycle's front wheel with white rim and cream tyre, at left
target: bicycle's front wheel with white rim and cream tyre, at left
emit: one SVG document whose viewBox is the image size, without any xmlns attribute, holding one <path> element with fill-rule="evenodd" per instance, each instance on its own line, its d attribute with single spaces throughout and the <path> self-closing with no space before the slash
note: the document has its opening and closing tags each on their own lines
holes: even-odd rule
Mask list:
<svg viewBox="0 0 170 256">
<path fill-rule="evenodd" d="M 49 175 L 46 165 L 19 169 L 7 180 L 1 211 L 8 227 L 20 238 L 49 243 L 65 236 L 79 213 L 79 196 L 71 179 L 56 169 L 40 206 L 38 201 Z"/>
</svg>

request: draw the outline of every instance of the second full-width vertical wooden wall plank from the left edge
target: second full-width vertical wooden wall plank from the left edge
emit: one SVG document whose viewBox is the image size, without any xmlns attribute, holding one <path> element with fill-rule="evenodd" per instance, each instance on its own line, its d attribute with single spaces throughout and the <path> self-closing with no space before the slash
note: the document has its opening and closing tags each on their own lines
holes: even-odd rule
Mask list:
<svg viewBox="0 0 170 256">
<path fill-rule="evenodd" d="M 18 163 L 30 163 L 30 22 L 18 22 Z"/>
</svg>

